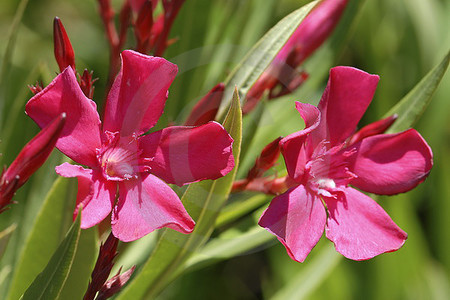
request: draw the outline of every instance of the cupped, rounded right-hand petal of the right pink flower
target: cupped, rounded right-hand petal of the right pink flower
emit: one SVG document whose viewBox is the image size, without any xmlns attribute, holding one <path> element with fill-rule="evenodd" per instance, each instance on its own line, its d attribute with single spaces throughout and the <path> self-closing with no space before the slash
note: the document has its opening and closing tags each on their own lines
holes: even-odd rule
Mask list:
<svg viewBox="0 0 450 300">
<path fill-rule="evenodd" d="M 425 180 L 433 166 L 431 148 L 414 129 L 380 134 L 354 145 L 351 184 L 369 193 L 392 195 L 409 191 Z"/>
</svg>

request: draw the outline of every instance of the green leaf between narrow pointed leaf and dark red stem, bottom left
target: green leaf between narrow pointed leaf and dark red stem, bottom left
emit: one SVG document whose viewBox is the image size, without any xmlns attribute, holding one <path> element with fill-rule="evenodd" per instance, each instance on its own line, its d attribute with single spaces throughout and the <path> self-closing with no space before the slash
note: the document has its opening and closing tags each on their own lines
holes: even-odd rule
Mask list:
<svg viewBox="0 0 450 300">
<path fill-rule="evenodd" d="M 82 230 L 72 268 L 60 299 L 83 299 L 98 255 L 98 228 Z"/>
</svg>

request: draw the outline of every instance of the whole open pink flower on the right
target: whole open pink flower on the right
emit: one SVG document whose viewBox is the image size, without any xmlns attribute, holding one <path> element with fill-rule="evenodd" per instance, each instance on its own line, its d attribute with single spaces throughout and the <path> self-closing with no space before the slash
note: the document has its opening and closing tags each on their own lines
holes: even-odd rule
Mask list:
<svg viewBox="0 0 450 300">
<path fill-rule="evenodd" d="M 409 191 L 425 180 L 433 164 L 431 149 L 416 130 L 378 134 L 390 120 L 353 138 L 378 80 L 358 69 L 336 67 L 317 108 L 296 103 L 305 129 L 280 142 L 290 188 L 272 200 L 259 220 L 296 261 L 305 260 L 324 229 L 336 250 L 353 260 L 398 250 L 407 238 L 381 206 L 357 190 L 380 195 Z"/>
</svg>

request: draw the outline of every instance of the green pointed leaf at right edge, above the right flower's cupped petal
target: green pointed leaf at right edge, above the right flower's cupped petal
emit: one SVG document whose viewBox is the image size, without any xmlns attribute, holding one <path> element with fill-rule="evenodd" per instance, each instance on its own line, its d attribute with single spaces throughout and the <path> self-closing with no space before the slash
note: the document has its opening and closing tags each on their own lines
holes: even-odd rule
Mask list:
<svg viewBox="0 0 450 300">
<path fill-rule="evenodd" d="M 450 61 L 450 51 L 385 117 L 397 114 L 398 118 L 388 133 L 406 130 L 414 125 L 431 102 L 434 91 L 441 82 Z"/>
</svg>

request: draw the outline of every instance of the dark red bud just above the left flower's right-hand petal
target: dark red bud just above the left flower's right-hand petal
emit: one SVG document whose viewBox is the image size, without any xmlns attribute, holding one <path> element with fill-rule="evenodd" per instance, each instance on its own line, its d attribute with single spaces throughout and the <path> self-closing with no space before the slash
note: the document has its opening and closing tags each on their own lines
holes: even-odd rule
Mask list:
<svg viewBox="0 0 450 300">
<path fill-rule="evenodd" d="M 225 85 L 218 83 L 192 109 L 185 125 L 199 126 L 213 121 L 222 102 Z"/>
</svg>

